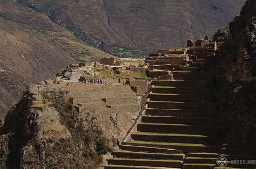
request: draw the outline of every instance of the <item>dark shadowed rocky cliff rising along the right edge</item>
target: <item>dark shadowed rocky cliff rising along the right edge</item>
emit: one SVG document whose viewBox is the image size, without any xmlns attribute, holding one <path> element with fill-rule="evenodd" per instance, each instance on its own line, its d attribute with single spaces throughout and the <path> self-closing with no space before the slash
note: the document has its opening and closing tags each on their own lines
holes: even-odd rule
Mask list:
<svg viewBox="0 0 256 169">
<path fill-rule="evenodd" d="M 248 0 L 239 17 L 220 30 L 215 39 L 224 41 L 215 60 L 223 138 L 226 143 L 240 144 L 256 153 L 255 133 L 255 20 L 256 2 Z M 220 33 L 226 32 L 226 33 Z M 230 32 L 227 33 L 227 32 Z M 225 39 L 225 40 L 224 40 Z"/>
</svg>

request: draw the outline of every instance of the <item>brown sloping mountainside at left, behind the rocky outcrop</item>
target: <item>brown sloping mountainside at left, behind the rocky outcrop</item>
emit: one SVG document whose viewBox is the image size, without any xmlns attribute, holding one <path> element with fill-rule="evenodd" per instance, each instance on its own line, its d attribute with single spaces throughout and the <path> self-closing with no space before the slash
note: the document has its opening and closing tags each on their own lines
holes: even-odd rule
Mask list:
<svg viewBox="0 0 256 169">
<path fill-rule="evenodd" d="M 29 83 L 52 78 L 73 60 L 106 56 L 44 13 L 0 1 L 0 121 Z"/>
</svg>

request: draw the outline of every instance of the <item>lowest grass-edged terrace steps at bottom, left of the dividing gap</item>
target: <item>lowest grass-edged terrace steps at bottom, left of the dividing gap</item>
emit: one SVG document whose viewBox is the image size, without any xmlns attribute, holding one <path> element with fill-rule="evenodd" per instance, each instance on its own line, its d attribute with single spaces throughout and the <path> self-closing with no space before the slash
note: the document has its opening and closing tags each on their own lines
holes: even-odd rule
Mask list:
<svg viewBox="0 0 256 169">
<path fill-rule="evenodd" d="M 112 152 L 105 168 L 180 168 L 184 154 L 180 150 L 158 147 L 120 145 L 119 151 Z"/>
</svg>

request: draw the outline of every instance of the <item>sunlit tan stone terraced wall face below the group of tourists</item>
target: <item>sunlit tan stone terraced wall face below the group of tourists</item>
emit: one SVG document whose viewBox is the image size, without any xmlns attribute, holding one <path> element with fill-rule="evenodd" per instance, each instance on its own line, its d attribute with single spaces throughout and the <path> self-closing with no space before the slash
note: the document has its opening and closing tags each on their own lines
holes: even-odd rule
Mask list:
<svg viewBox="0 0 256 169">
<path fill-rule="evenodd" d="M 68 91 L 79 118 L 90 114 L 106 138 L 124 137 L 141 109 L 140 100 L 130 86 L 69 83 L 63 90 Z"/>
</svg>

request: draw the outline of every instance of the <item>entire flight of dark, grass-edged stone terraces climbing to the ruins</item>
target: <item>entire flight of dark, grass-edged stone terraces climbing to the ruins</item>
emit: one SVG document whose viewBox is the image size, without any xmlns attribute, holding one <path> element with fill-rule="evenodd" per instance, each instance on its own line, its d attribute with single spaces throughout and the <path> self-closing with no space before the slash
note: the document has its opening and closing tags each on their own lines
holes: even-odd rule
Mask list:
<svg viewBox="0 0 256 169">
<path fill-rule="evenodd" d="M 196 57 L 191 67 L 173 72 L 174 81 L 152 82 L 143 115 L 120 143 L 120 150 L 112 152 L 113 158 L 107 160 L 105 168 L 217 166 L 222 150 L 218 105 L 211 75 L 201 71 L 206 58 L 214 53 L 201 51 L 192 53 Z M 160 69 L 156 72 L 167 67 L 172 69 L 170 65 L 151 67 Z"/>
</svg>

